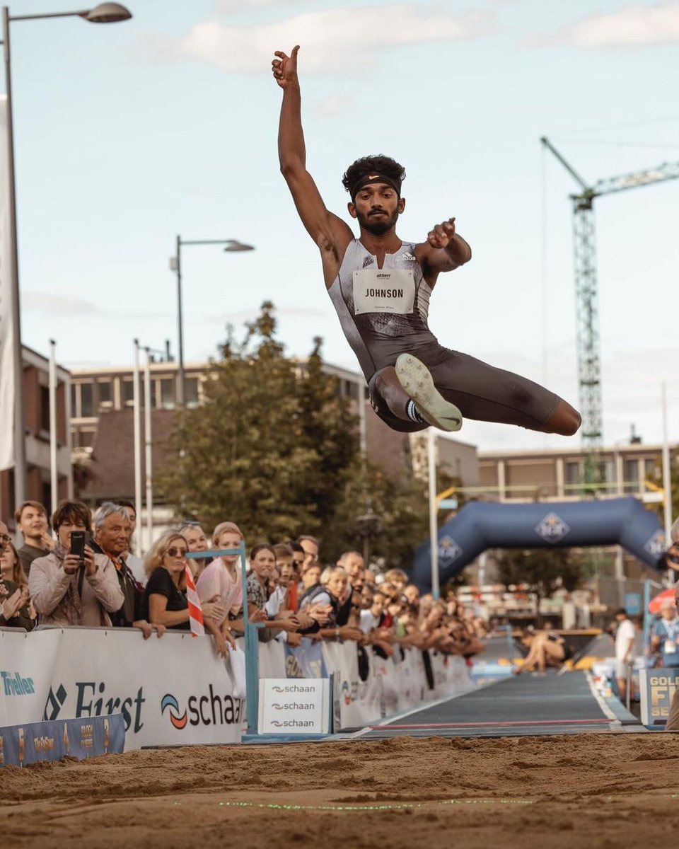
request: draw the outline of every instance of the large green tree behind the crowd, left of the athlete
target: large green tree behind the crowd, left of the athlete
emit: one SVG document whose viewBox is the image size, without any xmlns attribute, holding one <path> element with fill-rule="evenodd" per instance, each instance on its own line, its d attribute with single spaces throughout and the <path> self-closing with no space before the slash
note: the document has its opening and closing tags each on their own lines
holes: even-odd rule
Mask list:
<svg viewBox="0 0 679 849">
<path fill-rule="evenodd" d="M 389 565 L 412 563 L 427 534 L 425 484 L 364 464 L 357 419 L 323 371 L 321 340 L 304 363 L 284 356 L 267 302 L 242 340 L 229 329 L 205 383 L 205 403 L 185 410 L 171 436 L 160 489 L 177 516 L 210 530 L 233 520 L 247 542 L 322 537 L 323 559 L 362 548 L 357 520 L 371 510 L 371 539 Z"/>
</svg>

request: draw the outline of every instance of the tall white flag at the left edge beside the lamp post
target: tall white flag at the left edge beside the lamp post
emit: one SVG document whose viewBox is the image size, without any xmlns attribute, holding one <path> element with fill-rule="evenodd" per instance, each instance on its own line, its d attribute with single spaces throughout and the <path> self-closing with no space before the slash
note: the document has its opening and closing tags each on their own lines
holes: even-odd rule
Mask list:
<svg viewBox="0 0 679 849">
<path fill-rule="evenodd" d="M 14 466 L 14 329 L 7 97 L 0 96 L 0 469 Z"/>
</svg>

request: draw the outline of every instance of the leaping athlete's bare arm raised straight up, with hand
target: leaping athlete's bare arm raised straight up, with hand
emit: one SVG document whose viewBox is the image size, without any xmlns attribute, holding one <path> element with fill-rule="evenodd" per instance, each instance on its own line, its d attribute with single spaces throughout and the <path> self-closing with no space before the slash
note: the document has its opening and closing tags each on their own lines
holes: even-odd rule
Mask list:
<svg viewBox="0 0 679 849">
<path fill-rule="evenodd" d="M 323 203 L 316 183 L 306 170 L 306 148 L 301 121 L 300 81 L 297 77 L 297 52 L 299 45 L 290 55 L 277 50 L 272 60 L 273 76 L 283 89 L 283 105 L 278 125 L 278 159 L 281 173 L 288 183 L 295 206 L 311 239 L 316 242 L 323 256 L 323 267 L 334 275 L 344 256 L 346 246 L 353 239 L 349 225 L 329 212 Z M 337 268 L 334 268 L 337 263 Z"/>
</svg>

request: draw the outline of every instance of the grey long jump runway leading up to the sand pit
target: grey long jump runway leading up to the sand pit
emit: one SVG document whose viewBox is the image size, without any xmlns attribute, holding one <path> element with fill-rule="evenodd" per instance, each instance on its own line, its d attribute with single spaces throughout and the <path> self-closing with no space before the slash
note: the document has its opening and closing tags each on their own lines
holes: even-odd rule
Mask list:
<svg viewBox="0 0 679 849">
<path fill-rule="evenodd" d="M 645 728 L 617 700 L 604 700 L 585 672 L 544 677 L 512 676 L 434 705 L 401 713 L 363 728 L 368 739 L 409 737 L 506 737 L 591 734 Z"/>
</svg>

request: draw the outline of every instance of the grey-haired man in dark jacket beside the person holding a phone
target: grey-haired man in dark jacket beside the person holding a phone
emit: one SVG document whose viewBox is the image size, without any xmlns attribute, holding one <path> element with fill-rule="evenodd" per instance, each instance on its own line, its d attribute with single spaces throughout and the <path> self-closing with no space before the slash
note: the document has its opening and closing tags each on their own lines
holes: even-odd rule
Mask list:
<svg viewBox="0 0 679 849">
<path fill-rule="evenodd" d="M 125 561 L 130 533 L 130 520 L 126 508 L 121 504 L 104 502 L 93 516 L 93 531 L 92 547 L 95 551 L 105 554 L 115 565 L 115 575 L 125 597 L 121 609 L 111 615 L 113 625 L 127 628 L 138 627 L 143 631 L 144 638 L 149 637 L 153 628 L 149 622 L 139 618 L 143 587 Z"/>
</svg>

